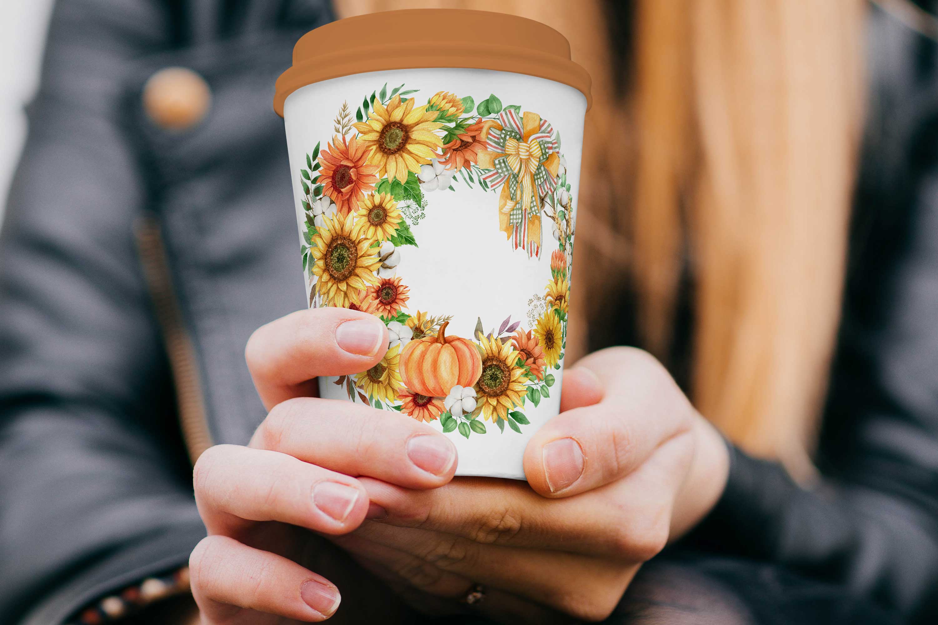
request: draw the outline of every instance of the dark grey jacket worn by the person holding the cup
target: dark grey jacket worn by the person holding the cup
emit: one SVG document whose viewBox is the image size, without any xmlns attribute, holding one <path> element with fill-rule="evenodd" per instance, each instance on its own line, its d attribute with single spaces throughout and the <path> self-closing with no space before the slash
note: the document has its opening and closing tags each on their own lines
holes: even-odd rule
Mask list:
<svg viewBox="0 0 938 625">
<path fill-rule="evenodd" d="M 0 621 L 60 623 L 184 564 L 204 535 L 189 455 L 250 438 L 265 411 L 245 342 L 304 305 L 271 99 L 296 38 L 329 19 L 319 0 L 55 8 L 0 238 Z M 726 496 L 684 546 L 926 622 L 938 611 L 938 57 L 881 15 L 873 31 L 819 457 L 832 479 L 803 490 L 734 454 Z M 169 66 L 213 95 L 183 133 L 142 110 L 144 82 Z"/>
</svg>

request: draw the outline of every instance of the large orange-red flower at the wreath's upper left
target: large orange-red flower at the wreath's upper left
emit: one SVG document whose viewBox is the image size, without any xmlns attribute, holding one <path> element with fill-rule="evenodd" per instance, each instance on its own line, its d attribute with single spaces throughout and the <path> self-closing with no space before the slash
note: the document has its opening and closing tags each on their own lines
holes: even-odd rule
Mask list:
<svg viewBox="0 0 938 625">
<path fill-rule="evenodd" d="M 319 153 L 319 182 L 323 194 L 336 202 L 341 216 L 358 208 L 365 193 L 378 184 L 378 168 L 368 164 L 368 146 L 361 141 L 336 135 Z"/>
</svg>

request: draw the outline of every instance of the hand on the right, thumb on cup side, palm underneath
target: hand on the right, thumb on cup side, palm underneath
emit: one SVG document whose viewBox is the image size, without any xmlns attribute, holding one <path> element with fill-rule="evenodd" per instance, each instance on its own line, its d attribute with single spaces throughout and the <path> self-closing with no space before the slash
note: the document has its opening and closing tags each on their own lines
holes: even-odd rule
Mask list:
<svg viewBox="0 0 938 625">
<path fill-rule="evenodd" d="M 640 350 L 599 351 L 569 369 L 561 409 L 527 445 L 528 484 L 362 479 L 378 516 L 332 540 L 423 609 L 460 610 L 481 584 L 476 609 L 502 622 L 606 618 L 641 563 L 719 499 L 728 454 Z"/>
</svg>

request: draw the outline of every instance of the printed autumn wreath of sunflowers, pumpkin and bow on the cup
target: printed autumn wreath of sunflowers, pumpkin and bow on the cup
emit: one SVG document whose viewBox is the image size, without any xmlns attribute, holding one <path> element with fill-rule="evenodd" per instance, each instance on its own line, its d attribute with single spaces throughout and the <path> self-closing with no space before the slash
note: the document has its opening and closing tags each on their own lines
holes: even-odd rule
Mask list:
<svg viewBox="0 0 938 625">
<path fill-rule="evenodd" d="M 389 337 L 380 363 L 334 383 L 353 401 L 467 439 L 485 422 L 520 433 L 526 403 L 550 397 L 567 342 L 572 194 L 559 133 L 493 94 L 476 104 L 439 92 L 418 104 L 418 90 L 403 86 L 385 84 L 355 113 L 344 103 L 335 135 L 300 171 L 310 307 L 370 312 Z M 544 221 L 556 248 L 543 294 L 521 314 L 529 328 L 509 315 L 487 333 L 477 319 L 465 338 L 447 332 L 451 315 L 409 309 L 406 248 L 417 246 L 411 227 L 431 210 L 428 195 L 475 185 L 498 194 L 498 229 L 515 250 L 540 258 Z"/>
</svg>

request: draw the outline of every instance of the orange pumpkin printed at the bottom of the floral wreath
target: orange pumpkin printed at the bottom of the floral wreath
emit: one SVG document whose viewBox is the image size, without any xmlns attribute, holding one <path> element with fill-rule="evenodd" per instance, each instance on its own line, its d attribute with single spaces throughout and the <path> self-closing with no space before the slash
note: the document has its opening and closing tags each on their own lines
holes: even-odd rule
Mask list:
<svg viewBox="0 0 938 625">
<path fill-rule="evenodd" d="M 446 397 L 449 390 L 474 385 L 482 374 L 482 358 L 476 345 L 459 336 L 446 336 L 446 326 L 436 336 L 410 341 L 401 352 L 401 379 L 416 394 Z"/>
</svg>

